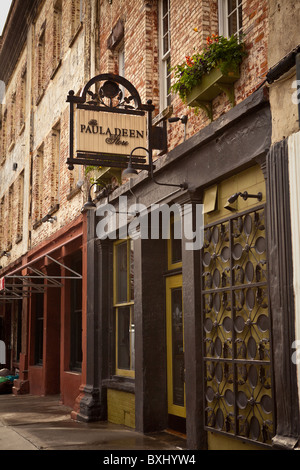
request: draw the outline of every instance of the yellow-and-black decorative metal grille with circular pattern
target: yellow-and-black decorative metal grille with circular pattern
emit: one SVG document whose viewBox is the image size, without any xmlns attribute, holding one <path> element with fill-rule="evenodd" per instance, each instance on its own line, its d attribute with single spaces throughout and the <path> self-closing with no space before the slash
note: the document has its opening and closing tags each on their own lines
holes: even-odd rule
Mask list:
<svg viewBox="0 0 300 470">
<path fill-rule="evenodd" d="M 205 227 L 205 428 L 270 444 L 273 399 L 265 210 Z"/>
</svg>

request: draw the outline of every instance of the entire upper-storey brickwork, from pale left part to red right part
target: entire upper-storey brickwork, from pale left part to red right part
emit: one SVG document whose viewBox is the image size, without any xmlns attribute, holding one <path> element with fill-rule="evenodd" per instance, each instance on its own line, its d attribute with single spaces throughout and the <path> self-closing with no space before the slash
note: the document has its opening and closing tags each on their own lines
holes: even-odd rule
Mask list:
<svg viewBox="0 0 300 470">
<path fill-rule="evenodd" d="M 82 24 L 80 0 L 76 2 L 45 0 L 41 5 L 35 22 L 29 29 L 27 43 L 14 74 L 7 84 L 7 102 L 2 109 L 3 113 L 6 111 L 7 122 L 6 152 L 0 171 L 2 191 L 0 197 L 8 192 L 11 184 L 17 179 L 17 173 L 25 169 L 24 198 L 27 205 L 23 211 L 23 231 L 31 233 L 30 242 L 26 241 L 28 237 L 23 237 L 22 249 L 19 245 L 15 250 L 15 257 L 22 251 L 25 252 L 28 248 L 36 246 L 77 217 L 86 199 L 86 192 L 76 189 L 78 179 L 84 177 L 83 170 L 76 167 L 70 172 L 65 163 L 69 146 L 69 105 L 66 103 L 69 90 L 73 89 L 75 93 L 79 93 L 87 80 L 97 73 L 118 73 L 118 53 L 124 44 L 125 77 L 137 88 L 142 102 L 152 99 L 155 105 L 154 114 L 159 112 L 157 0 L 113 0 L 111 3 L 104 0 L 99 2 L 84 0 L 81 12 Z M 63 25 L 61 33 L 58 33 L 55 6 L 61 8 Z M 120 21 L 124 25 L 124 35 L 118 38 L 117 43 L 114 44 L 112 41 L 108 47 L 108 40 L 111 39 Z M 266 0 L 243 2 L 243 29 L 249 55 L 241 66 L 241 77 L 234 85 L 236 103 L 255 91 L 267 71 L 268 2 Z M 206 43 L 206 37 L 217 32 L 218 0 L 184 2 L 170 0 L 171 66 L 182 63 L 186 55 L 201 51 Z M 43 35 L 45 50 L 41 55 L 39 44 Z M 58 37 L 61 39 L 61 44 L 56 44 Z M 39 67 L 42 58 L 44 72 L 41 83 Z M 24 80 L 25 71 L 26 93 L 24 94 L 24 87 L 22 89 L 19 84 Z M 189 110 L 176 95 L 172 96 L 172 106 L 174 116 L 180 117 L 183 114 L 189 116 L 187 138 L 210 122 L 202 111 L 196 115 L 193 110 Z M 14 131 L 9 125 L 13 107 L 16 116 Z M 214 119 L 229 109 L 230 103 L 225 94 L 221 93 L 213 102 Z M 59 155 L 53 137 L 58 124 Z M 168 123 L 167 129 L 170 150 L 183 141 L 184 128 L 179 122 Z M 43 178 L 40 183 L 42 188 L 39 188 L 36 155 L 41 147 L 44 154 Z M 11 170 L 13 162 L 18 162 L 17 173 Z M 41 210 L 35 201 L 38 194 L 42 194 Z M 59 210 L 53 215 L 56 215 L 57 221 L 53 224 L 35 224 L 41 217 L 51 212 L 56 203 L 59 203 Z M 6 260 L 2 261 L 5 265 Z"/>
</svg>

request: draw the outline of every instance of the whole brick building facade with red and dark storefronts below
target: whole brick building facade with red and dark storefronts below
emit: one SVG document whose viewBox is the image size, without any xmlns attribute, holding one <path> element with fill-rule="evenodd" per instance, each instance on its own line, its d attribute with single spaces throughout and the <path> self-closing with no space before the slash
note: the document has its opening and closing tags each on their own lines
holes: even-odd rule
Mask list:
<svg viewBox="0 0 300 470">
<path fill-rule="evenodd" d="M 288 52 L 272 58 L 270 25 L 292 10 L 271 4 L 13 2 L 0 50 L 0 339 L 7 366 L 19 371 L 14 393 L 59 393 L 78 420 L 180 431 L 191 449 L 296 445 L 296 245 L 289 230 L 280 233 L 290 201 L 272 164 L 286 171 L 274 137 L 278 97 L 272 102 L 266 80 Z M 223 88 L 210 119 L 169 92 L 170 68 L 207 37 L 240 33 L 247 57 L 230 89 L 234 106 Z M 82 211 L 89 195 L 98 207 L 106 198 L 91 193 L 82 165 L 66 164 L 67 97 L 102 74 L 125 77 L 141 103 L 152 101 L 150 128 L 164 137 L 153 153 L 159 185 L 147 172 L 122 180 L 119 170 L 110 203 L 189 204 L 194 217 L 204 204 L 202 250 L 163 237 L 100 240 L 97 211 Z M 187 189 L 168 187 L 183 182 Z M 239 197 L 244 191 L 254 197 Z M 276 275 L 279 262 L 290 289 Z"/>
</svg>

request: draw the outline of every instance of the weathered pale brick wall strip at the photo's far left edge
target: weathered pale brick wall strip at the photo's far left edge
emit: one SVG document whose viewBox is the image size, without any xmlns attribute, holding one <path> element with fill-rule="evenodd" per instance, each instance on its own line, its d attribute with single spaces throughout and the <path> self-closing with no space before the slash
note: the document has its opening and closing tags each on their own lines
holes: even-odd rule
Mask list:
<svg viewBox="0 0 300 470">
<path fill-rule="evenodd" d="M 26 138 L 30 123 L 24 125 L 24 78 L 27 72 L 27 49 L 24 48 L 14 75 L 6 84 L 5 100 L 2 105 L 0 132 L 0 199 L 1 231 L 0 255 L 9 251 L 10 257 L 1 256 L 0 265 L 6 266 L 27 250 L 27 200 L 24 194 L 26 167 Z M 4 122 L 4 120 L 5 122 Z M 28 181 L 26 167 L 26 182 Z M 24 234 L 25 232 L 25 234 Z"/>
</svg>

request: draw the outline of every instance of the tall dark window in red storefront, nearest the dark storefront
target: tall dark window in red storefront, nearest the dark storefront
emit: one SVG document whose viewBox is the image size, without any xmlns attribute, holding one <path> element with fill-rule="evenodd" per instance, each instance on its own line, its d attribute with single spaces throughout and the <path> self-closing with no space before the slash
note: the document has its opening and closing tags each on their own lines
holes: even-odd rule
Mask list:
<svg viewBox="0 0 300 470">
<path fill-rule="evenodd" d="M 81 253 L 75 256 L 72 269 L 82 273 Z M 81 371 L 82 363 L 82 279 L 71 279 L 70 370 Z"/>
</svg>

